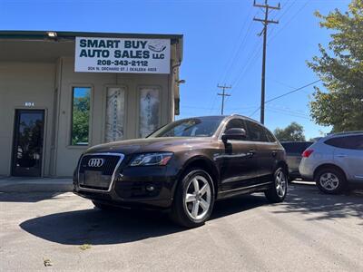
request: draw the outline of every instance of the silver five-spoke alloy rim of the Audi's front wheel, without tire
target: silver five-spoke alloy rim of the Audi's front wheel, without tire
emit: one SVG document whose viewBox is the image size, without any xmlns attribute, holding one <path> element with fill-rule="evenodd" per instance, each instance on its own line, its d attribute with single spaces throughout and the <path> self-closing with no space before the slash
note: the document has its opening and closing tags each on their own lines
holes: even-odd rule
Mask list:
<svg viewBox="0 0 363 272">
<path fill-rule="evenodd" d="M 184 206 L 191 219 L 202 219 L 211 207 L 211 186 L 203 176 L 189 180 L 184 196 Z"/>
</svg>

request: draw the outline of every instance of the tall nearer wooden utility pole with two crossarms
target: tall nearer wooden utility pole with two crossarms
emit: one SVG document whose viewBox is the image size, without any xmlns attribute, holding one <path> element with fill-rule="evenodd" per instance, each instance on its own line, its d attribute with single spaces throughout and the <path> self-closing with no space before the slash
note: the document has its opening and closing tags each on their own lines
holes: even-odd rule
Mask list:
<svg viewBox="0 0 363 272">
<path fill-rule="evenodd" d="M 269 9 L 280 10 L 280 3 L 278 6 L 271 6 L 265 0 L 265 4 L 256 4 L 256 0 L 253 2 L 253 6 L 263 8 L 265 11 L 265 18 L 253 18 L 253 21 L 258 21 L 263 24 L 263 30 L 260 33 L 263 34 L 263 53 L 262 53 L 262 76 L 261 76 L 261 103 L 260 103 L 260 122 L 265 122 L 265 71 L 266 71 L 266 39 L 267 39 L 267 26 L 269 24 L 279 24 L 279 21 L 269 20 Z"/>
</svg>

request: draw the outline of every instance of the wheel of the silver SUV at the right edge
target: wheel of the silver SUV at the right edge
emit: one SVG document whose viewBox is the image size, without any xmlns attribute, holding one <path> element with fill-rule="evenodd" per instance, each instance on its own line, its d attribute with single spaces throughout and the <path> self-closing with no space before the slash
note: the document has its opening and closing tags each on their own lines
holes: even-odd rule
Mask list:
<svg viewBox="0 0 363 272">
<path fill-rule="evenodd" d="M 347 189 L 344 173 L 335 168 L 319 170 L 314 180 L 318 189 L 325 194 L 336 195 Z"/>
</svg>

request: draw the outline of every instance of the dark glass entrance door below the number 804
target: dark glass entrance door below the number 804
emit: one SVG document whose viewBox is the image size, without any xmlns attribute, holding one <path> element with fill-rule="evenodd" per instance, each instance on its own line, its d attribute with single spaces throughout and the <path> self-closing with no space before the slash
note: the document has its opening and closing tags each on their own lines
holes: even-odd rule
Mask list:
<svg viewBox="0 0 363 272">
<path fill-rule="evenodd" d="M 13 176 L 42 175 L 43 137 L 43 110 L 15 110 Z"/>
</svg>

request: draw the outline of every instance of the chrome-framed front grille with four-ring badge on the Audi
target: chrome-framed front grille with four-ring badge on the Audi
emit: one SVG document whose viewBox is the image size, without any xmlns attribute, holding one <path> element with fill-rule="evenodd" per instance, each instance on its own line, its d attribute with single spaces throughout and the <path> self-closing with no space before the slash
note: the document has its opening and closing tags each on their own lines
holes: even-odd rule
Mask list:
<svg viewBox="0 0 363 272">
<path fill-rule="evenodd" d="M 101 165 L 90 160 L 103 160 Z M 111 189 L 113 172 L 123 160 L 123 154 L 93 153 L 83 155 L 79 170 L 78 184 L 81 189 L 107 191 Z"/>
</svg>

